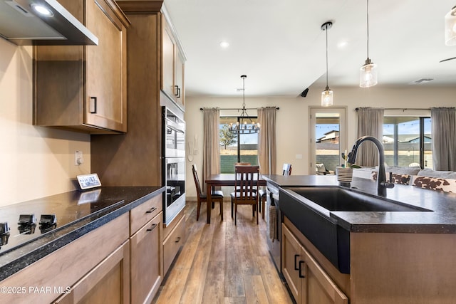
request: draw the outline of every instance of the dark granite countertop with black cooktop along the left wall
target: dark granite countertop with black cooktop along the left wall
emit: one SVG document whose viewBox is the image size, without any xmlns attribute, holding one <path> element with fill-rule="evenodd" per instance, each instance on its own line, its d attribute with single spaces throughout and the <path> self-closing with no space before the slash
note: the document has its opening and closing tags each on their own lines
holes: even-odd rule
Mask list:
<svg viewBox="0 0 456 304">
<path fill-rule="evenodd" d="M 8 222 L 11 230 L 9 242 L 0 247 L 0 281 L 164 190 L 164 187 L 100 187 L 1 207 L 0 223 Z M 18 231 L 19 214 L 31 213 L 36 216 L 36 229 L 33 233 Z M 56 214 L 56 228 L 38 232 L 41 214 Z"/>
</svg>

